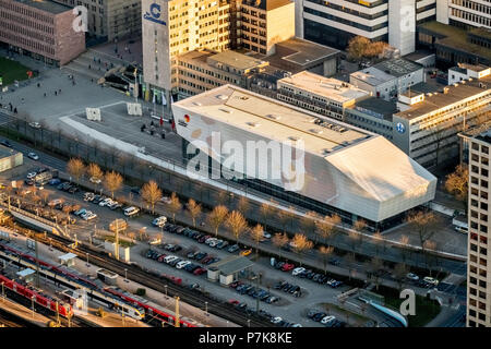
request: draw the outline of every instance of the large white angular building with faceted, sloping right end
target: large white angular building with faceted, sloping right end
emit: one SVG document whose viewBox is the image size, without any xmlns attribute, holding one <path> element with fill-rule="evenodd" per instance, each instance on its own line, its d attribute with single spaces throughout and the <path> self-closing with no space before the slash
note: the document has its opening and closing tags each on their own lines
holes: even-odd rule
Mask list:
<svg viewBox="0 0 491 349">
<path fill-rule="evenodd" d="M 400 222 L 408 209 L 434 197 L 436 179 L 383 136 L 240 87 L 225 85 L 179 100 L 172 112 L 184 143 L 217 163 L 226 178 L 266 197 L 337 213 L 347 222 L 363 218 L 372 230 Z M 254 148 L 258 142 L 266 147 Z M 233 152 L 230 161 L 225 153 L 231 144 L 248 152 L 252 144 L 252 156 Z M 276 156 L 275 144 L 292 148 L 287 159 L 295 168 Z"/>
</svg>

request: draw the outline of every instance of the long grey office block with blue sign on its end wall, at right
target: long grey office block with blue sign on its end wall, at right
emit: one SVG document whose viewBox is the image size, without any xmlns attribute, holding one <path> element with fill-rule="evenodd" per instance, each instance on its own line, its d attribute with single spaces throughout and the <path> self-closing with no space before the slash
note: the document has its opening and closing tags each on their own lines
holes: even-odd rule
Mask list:
<svg viewBox="0 0 491 349">
<path fill-rule="evenodd" d="M 491 118 L 491 75 L 439 93 L 407 92 L 393 116 L 393 143 L 424 167 L 458 156 L 457 134 Z"/>
</svg>

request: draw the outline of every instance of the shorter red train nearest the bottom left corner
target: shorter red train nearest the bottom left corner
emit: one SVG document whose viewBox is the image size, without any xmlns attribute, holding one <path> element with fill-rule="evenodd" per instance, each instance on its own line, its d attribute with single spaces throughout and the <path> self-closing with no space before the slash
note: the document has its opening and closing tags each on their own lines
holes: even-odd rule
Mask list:
<svg viewBox="0 0 491 349">
<path fill-rule="evenodd" d="M 36 304 L 39 304 L 43 308 L 46 308 L 55 313 L 57 312 L 57 302 L 58 302 L 58 312 L 61 316 L 64 317 L 73 316 L 73 309 L 70 304 L 63 303 L 48 294 L 44 294 L 41 293 L 40 290 L 36 290 L 31 286 L 22 285 L 20 282 L 11 280 L 10 278 L 1 274 L 0 274 L 0 284 L 3 284 L 3 287 L 28 299 L 29 301 L 34 297 Z"/>
</svg>

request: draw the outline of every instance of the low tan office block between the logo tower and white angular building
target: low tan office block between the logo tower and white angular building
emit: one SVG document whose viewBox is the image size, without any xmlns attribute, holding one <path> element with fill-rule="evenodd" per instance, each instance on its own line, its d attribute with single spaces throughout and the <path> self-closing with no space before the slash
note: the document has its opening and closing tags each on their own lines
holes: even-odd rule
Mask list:
<svg viewBox="0 0 491 349">
<path fill-rule="evenodd" d="M 252 76 L 270 63 L 232 50 L 195 50 L 178 57 L 179 97 L 185 98 L 217 86 L 250 88 Z"/>
</svg>

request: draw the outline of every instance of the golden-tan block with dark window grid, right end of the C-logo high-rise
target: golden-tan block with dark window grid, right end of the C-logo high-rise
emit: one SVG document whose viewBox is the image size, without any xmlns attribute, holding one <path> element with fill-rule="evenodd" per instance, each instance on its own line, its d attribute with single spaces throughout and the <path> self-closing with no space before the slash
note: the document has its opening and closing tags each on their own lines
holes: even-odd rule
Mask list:
<svg viewBox="0 0 491 349">
<path fill-rule="evenodd" d="M 295 2 L 243 0 L 240 4 L 241 46 L 272 55 L 275 44 L 295 37 Z"/>
</svg>

